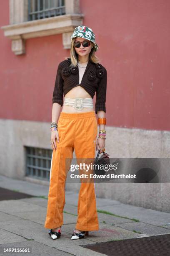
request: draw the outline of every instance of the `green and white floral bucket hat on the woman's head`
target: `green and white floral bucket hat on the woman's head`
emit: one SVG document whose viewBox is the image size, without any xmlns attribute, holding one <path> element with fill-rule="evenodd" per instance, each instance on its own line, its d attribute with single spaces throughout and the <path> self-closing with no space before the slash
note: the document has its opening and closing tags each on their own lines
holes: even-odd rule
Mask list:
<svg viewBox="0 0 170 256">
<path fill-rule="evenodd" d="M 90 40 L 94 43 L 95 51 L 98 50 L 98 45 L 95 43 L 95 34 L 93 33 L 91 28 L 88 28 L 87 26 L 78 26 L 75 28 L 74 32 L 71 35 L 71 41 L 74 37 L 82 37 L 87 40 Z"/>
</svg>

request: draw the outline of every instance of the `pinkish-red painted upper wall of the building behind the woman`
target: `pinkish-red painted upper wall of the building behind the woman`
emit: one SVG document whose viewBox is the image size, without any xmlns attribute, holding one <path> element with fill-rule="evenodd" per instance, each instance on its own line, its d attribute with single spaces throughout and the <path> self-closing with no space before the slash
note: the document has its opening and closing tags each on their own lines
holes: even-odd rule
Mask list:
<svg viewBox="0 0 170 256">
<path fill-rule="evenodd" d="M 0 27 L 9 24 L 1 6 Z M 170 1 L 86 0 L 80 10 L 107 69 L 107 125 L 170 130 Z M 62 35 L 28 39 L 20 56 L 2 29 L 0 42 L 0 118 L 50 122 L 57 65 L 70 56 Z"/>
</svg>

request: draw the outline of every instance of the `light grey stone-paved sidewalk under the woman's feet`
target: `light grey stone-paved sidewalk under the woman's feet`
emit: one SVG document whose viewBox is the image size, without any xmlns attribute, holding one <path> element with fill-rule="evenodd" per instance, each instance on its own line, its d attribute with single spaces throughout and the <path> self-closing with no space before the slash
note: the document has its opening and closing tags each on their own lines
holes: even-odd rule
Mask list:
<svg viewBox="0 0 170 256">
<path fill-rule="evenodd" d="M 62 236 L 52 241 L 48 229 L 44 228 L 48 187 L 4 176 L 0 176 L 0 187 L 36 196 L 0 201 L 0 255 L 6 254 L 3 248 L 14 247 L 30 248 L 31 253 L 9 255 L 104 255 L 80 245 L 170 234 L 170 213 L 97 198 L 100 230 L 71 241 L 77 220 L 78 194 L 66 191 Z"/>
</svg>

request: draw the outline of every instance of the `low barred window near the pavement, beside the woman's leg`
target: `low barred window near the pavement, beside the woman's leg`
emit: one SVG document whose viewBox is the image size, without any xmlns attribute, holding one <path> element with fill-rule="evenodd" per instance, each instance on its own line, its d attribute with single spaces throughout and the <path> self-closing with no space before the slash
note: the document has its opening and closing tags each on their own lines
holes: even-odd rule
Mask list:
<svg viewBox="0 0 170 256">
<path fill-rule="evenodd" d="M 26 176 L 50 180 L 52 149 L 26 148 Z"/>
</svg>

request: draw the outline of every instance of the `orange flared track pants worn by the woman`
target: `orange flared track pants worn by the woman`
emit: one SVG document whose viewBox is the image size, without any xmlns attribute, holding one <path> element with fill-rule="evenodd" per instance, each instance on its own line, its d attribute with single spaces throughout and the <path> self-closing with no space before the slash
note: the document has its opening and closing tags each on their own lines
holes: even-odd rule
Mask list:
<svg viewBox="0 0 170 256">
<path fill-rule="evenodd" d="M 95 112 L 61 112 L 58 119 L 58 134 L 57 149 L 52 151 L 45 228 L 57 228 L 63 225 L 65 181 L 68 172 L 65 159 L 72 159 L 74 150 L 76 158 L 95 158 L 97 139 Z M 77 215 L 75 228 L 84 231 L 99 230 L 93 182 L 80 185 Z"/>
</svg>

